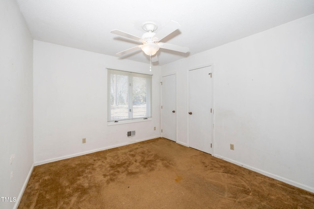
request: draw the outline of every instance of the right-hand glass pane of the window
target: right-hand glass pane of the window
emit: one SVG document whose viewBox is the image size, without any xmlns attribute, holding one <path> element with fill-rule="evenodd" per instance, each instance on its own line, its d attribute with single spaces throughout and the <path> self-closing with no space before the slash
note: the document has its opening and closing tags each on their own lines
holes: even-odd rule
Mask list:
<svg viewBox="0 0 314 209">
<path fill-rule="evenodd" d="M 146 78 L 133 77 L 133 118 L 147 117 L 147 82 Z"/>
</svg>

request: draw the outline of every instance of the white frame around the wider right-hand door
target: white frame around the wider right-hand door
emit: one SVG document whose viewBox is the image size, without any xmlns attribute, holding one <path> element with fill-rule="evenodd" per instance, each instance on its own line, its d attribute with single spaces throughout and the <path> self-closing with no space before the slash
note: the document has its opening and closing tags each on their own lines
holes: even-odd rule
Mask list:
<svg viewBox="0 0 314 209">
<path fill-rule="evenodd" d="M 203 64 L 203 65 L 199 65 L 199 66 L 195 66 L 195 67 L 191 67 L 191 68 L 188 68 L 187 69 L 187 74 L 186 74 L 186 76 L 187 76 L 187 105 L 186 105 L 186 107 L 187 107 L 187 110 L 186 110 L 186 115 L 188 114 L 188 111 L 189 111 L 189 109 L 190 109 L 190 79 L 189 79 L 189 72 L 191 71 L 191 70 L 197 70 L 197 69 L 200 69 L 200 68 L 206 68 L 206 67 L 211 67 L 211 106 L 212 106 L 212 117 L 211 117 L 211 128 L 212 128 L 212 132 L 211 132 L 211 155 L 212 156 L 214 156 L 214 154 L 215 154 L 215 143 L 214 143 L 214 137 L 215 137 L 215 131 L 214 131 L 214 116 L 215 116 L 215 107 L 214 107 L 214 104 L 215 104 L 215 102 L 214 102 L 214 79 L 215 79 L 215 76 L 214 76 L 214 65 L 213 65 L 213 63 L 208 63 L 208 64 Z M 187 127 L 189 127 L 189 122 L 190 122 L 190 118 L 189 117 L 187 117 Z M 190 137 L 190 133 L 189 133 L 189 128 L 187 128 L 187 130 L 186 130 L 186 136 L 187 136 L 187 145 L 188 145 L 188 147 L 189 147 L 189 145 L 190 145 L 190 139 L 189 139 L 189 137 Z"/>
</svg>

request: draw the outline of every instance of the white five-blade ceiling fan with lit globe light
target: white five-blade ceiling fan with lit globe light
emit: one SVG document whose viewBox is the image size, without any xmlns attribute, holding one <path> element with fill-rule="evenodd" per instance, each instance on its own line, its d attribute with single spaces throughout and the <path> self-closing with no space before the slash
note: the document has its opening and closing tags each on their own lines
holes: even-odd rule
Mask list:
<svg viewBox="0 0 314 209">
<path fill-rule="evenodd" d="M 164 48 L 164 49 L 169 49 L 169 50 L 173 50 L 173 51 L 179 51 L 179 52 L 186 53 L 189 50 L 188 47 L 177 46 L 177 45 L 173 45 L 173 44 L 167 44 L 167 43 L 159 42 L 163 38 L 165 38 L 166 36 L 168 36 L 169 34 L 174 32 L 175 30 L 177 30 L 179 27 L 180 27 L 179 23 L 177 23 L 175 21 L 171 21 L 165 27 L 163 27 L 161 30 L 159 30 L 157 33 L 155 33 L 154 31 L 157 29 L 156 23 L 145 22 L 145 23 L 142 23 L 142 28 L 143 28 L 143 30 L 146 31 L 146 33 L 144 33 L 142 35 L 142 37 L 137 37 L 137 36 L 131 35 L 129 33 L 123 32 L 121 30 L 117 30 L 117 29 L 111 30 L 111 33 L 113 33 L 113 34 L 123 36 L 123 37 L 129 38 L 129 39 L 133 39 L 133 40 L 136 40 L 138 42 L 142 42 L 142 45 L 134 46 L 134 47 L 126 49 L 124 51 L 120 51 L 116 54 L 117 55 L 124 55 L 126 53 L 131 52 L 131 51 L 135 51 L 139 48 L 141 48 L 144 51 L 144 53 L 149 55 L 149 56 L 155 55 L 157 53 L 157 51 L 159 50 L 159 48 Z M 152 57 L 152 62 L 157 62 L 157 61 L 158 61 L 157 55 Z"/>
</svg>

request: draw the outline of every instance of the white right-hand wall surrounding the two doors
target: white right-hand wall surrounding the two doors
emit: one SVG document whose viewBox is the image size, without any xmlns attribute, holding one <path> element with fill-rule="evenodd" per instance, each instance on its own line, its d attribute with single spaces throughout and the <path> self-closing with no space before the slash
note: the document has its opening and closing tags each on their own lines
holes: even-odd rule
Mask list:
<svg viewBox="0 0 314 209">
<path fill-rule="evenodd" d="M 209 63 L 214 155 L 314 192 L 314 15 L 162 66 L 177 72 L 182 144 L 187 70 Z"/>
</svg>

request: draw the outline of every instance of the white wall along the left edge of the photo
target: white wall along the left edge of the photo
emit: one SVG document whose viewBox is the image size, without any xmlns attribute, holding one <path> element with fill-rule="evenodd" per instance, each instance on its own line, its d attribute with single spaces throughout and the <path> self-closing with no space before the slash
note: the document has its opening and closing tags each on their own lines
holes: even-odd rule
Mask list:
<svg viewBox="0 0 314 209">
<path fill-rule="evenodd" d="M 33 167 L 33 39 L 15 0 L 0 1 L 0 25 L 0 197 L 17 199 L 0 208 L 11 209 Z"/>
</svg>

